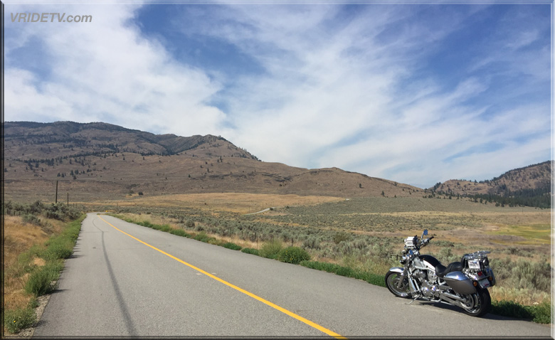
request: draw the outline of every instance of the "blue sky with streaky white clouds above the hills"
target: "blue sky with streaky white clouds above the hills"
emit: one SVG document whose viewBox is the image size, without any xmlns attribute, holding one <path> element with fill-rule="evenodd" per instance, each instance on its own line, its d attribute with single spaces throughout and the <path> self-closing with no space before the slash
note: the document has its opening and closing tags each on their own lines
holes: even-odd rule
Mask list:
<svg viewBox="0 0 555 340">
<path fill-rule="evenodd" d="M 221 135 L 421 188 L 551 159 L 547 1 L 51 2 L 6 2 L 6 121 Z"/>
</svg>

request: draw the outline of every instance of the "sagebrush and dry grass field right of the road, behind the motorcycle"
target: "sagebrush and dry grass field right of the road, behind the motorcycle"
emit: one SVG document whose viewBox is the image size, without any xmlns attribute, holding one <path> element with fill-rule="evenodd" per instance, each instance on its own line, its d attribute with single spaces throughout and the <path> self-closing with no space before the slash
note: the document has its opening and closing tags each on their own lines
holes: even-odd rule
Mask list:
<svg viewBox="0 0 555 340">
<path fill-rule="evenodd" d="M 176 235 L 245 252 L 265 253 L 263 248 L 270 244 L 302 248 L 310 255 L 310 267 L 327 263 L 334 270 L 372 280 L 398 266 L 404 238 L 420 236 L 428 229 L 435 238 L 423 253 L 438 257 L 445 265 L 465 253 L 492 252 L 490 264 L 497 286 L 490 293 L 497 305 L 551 303 L 550 210 L 496 207 L 462 199 L 251 193 L 135 195 L 119 201 L 77 203 L 75 207 L 117 213 L 151 228 L 157 225 Z M 271 209 L 256 213 L 265 208 Z M 8 233 L 8 240 L 31 235 L 34 227 L 27 224 L 26 228 L 29 233 Z M 56 225 L 48 228 L 56 229 Z M 21 225 L 11 230 L 18 229 Z M 38 230 L 36 233 L 41 235 Z M 15 247 L 10 242 L 6 244 Z M 316 265 L 322 266 L 326 267 Z"/>
</svg>

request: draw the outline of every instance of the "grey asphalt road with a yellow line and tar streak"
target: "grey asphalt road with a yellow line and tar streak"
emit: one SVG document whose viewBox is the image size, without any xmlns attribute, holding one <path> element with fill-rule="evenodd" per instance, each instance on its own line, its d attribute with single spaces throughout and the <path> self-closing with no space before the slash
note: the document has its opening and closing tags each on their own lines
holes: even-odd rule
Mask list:
<svg viewBox="0 0 555 340">
<path fill-rule="evenodd" d="M 551 338 L 550 326 L 408 302 L 361 280 L 89 213 L 33 336 Z"/>
</svg>

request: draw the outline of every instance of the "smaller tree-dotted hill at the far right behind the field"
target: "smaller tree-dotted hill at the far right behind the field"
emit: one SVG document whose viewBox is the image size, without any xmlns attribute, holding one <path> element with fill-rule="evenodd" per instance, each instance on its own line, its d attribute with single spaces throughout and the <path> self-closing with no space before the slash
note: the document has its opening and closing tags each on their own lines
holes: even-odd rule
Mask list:
<svg viewBox="0 0 555 340">
<path fill-rule="evenodd" d="M 430 188 L 438 194 L 465 196 L 499 205 L 551 207 L 551 161 L 507 171 L 485 181 L 451 179 Z"/>
</svg>

